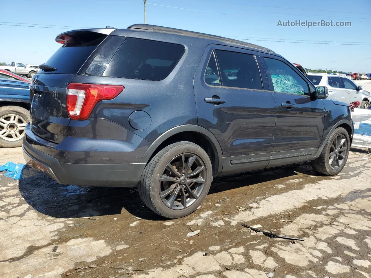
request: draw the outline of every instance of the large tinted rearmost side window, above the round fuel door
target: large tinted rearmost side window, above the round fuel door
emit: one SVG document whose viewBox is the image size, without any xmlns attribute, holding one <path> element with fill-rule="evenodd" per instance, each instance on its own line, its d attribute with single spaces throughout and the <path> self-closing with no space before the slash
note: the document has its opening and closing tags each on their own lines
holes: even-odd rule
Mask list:
<svg viewBox="0 0 371 278">
<path fill-rule="evenodd" d="M 103 76 L 162 80 L 171 73 L 184 51 L 180 44 L 127 38 Z"/>
</svg>

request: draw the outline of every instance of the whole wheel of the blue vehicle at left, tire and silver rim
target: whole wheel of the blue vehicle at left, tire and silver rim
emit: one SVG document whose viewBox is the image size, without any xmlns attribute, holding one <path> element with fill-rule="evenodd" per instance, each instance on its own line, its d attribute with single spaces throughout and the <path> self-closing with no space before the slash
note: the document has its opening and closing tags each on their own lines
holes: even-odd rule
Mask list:
<svg viewBox="0 0 371 278">
<path fill-rule="evenodd" d="M 22 146 L 24 128 L 29 122 L 30 113 L 23 107 L 13 105 L 0 107 L 0 147 Z"/>
</svg>

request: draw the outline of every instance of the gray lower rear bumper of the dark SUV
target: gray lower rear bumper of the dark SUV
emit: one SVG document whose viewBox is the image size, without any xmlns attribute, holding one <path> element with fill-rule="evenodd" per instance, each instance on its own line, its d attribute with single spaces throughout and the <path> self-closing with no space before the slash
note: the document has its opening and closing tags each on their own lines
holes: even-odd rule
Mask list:
<svg viewBox="0 0 371 278">
<path fill-rule="evenodd" d="M 76 164 L 64 163 L 36 149 L 23 139 L 23 156 L 37 171 L 43 171 L 58 183 L 79 186 L 135 187 L 145 163 Z M 28 138 L 29 139 L 29 138 Z"/>
</svg>

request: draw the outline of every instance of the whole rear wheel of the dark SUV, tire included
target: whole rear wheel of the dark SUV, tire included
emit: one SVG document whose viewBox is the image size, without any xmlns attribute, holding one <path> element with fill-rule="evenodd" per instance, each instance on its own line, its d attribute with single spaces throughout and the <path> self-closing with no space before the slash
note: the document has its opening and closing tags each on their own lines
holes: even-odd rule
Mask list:
<svg viewBox="0 0 371 278">
<path fill-rule="evenodd" d="M 191 159 L 192 157 L 195 157 L 194 160 Z M 190 160 L 192 161 L 190 163 L 191 168 L 187 171 Z M 182 164 L 185 166 L 181 166 Z M 170 171 L 171 168 L 168 165 L 174 165 L 171 166 L 173 171 Z M 178 168 L 176 165 L 179 165 Z M 202 169 L 202 171 L 191 175 L 197 172 L 197 169 Z M 180 174 L 180 176 L 175 175 L 175 173 Z M 144 168 L 141 181 L 138 183 L 138 192 L 145 205 L 155 213 L 165 218 L 180 218 L 194 212 L 206 198 L 213 180 L 212 173 L 210 158 L 200 146 L 186 141 L 173 143 L 158 152 Z M 199 176 L 196 177 L 196 175 Z M 191 178 L 187 178 L 187 176 Z M 171 179 L 171 181 L 168 179 L 164 181 L 164 177 Z M 194 182 L 192 185 L 190 180 L 194 181 L 196 179 L 201 183 Z M 192 194 L 189 193 L 188 189 L 191 189 Z M 178 192 L 177 190 L 179 193 L 174 194 Z M 166 191 L 171 193 L 166 195 L 164 193 Z M 184 199 L 182 193 L 184 193 Z M 194 197 L 189 198 L 191 195 Z M 171 202 L 172 196 L 180 197 Z M 177 201 L 179 199 L 180 201 Z"/>
</svg>

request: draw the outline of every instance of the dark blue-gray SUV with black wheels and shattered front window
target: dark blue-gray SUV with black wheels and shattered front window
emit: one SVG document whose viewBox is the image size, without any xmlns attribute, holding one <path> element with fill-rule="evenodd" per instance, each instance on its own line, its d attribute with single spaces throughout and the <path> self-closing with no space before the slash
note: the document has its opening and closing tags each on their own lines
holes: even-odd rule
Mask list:
<svg viewBox="0 0 371 278">
<path fill-rule="evenodd" d="M 336 175 L 347 161 L 348 105 L 270 49 L 145 24 L 56 41 L 30 85 L 23 150 L 59 183 L 137 186 L 178 218 L 215 176 L 308 160 Z"/>
</svg>

